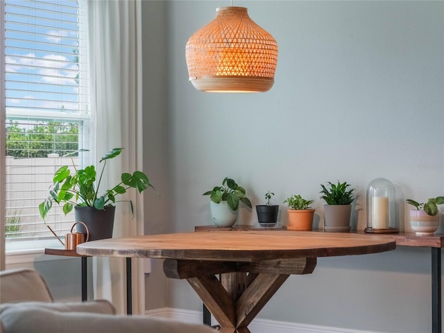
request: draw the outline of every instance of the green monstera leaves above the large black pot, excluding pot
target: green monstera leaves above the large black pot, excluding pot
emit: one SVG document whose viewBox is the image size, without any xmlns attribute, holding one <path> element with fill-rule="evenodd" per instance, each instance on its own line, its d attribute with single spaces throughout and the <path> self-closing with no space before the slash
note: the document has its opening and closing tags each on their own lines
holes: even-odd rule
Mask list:
<svg viewBox="0 0 444 333">
<path fill-rule="evenodd" d="M 103 167 L 97 182 L 97 172 L 94 165 L 85 167 L 85 169 L 77 169 L 73 160 L 74 172 L 71 172 L 66 165 L 58 169 L 54 174 L 53 185 L 49 188 L 47 198 L 39 205 L 40 216 L 42 216 L 42 219 L 45 219 L 46 214 L 51 210 L 53 202 L 58 204 L 64 203 L 63 212 L 65 215 L 71 212 L 75 205 L 81 207 L 95 207 L 97 210 L 103 210 L 104 207 L 119 202 L 116 200 L 116 196 L 126 193 L 130 188 L 137 189 L 137 191 L 141 193 L 148 187 L 153 187 L 145 173 L 142 171 L 134 171 L 133 174 L 122 173 L 121 182 L 119 182 L 119 184 L 100 194 L 99 188 L 106 163 L 108 160 L 120 155 L 122 149 L 123 148 L 114 148 L 101 158 L 99 162 L 103 162 Z M 69 156 L 72 160 L 72 154 Z M 133 203 L 131 201 L 129 202 L 131 211 L 133 212 Z"/>
</svg>

